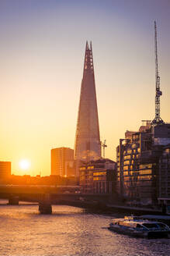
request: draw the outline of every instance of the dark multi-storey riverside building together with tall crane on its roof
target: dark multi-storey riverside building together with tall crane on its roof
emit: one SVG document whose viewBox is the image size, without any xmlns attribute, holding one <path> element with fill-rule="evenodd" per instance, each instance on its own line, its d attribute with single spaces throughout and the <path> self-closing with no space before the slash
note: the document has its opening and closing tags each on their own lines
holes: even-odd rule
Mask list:
<svg viewBox="0 0 170 256">
<path fill-rule="evenodd" d="M 155 117 L 137 132 L 127 131 L 116 148 L 117 187 L 128 204 L 170 205 L 170 123 L 160 116 L 157 27 L 155 43 Z"/>
</svg>

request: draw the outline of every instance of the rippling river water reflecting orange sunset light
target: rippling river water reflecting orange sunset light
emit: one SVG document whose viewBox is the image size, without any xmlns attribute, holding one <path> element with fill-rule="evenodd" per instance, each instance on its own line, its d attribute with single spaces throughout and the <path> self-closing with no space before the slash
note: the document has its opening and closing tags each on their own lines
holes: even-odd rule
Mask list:
<svg viewBox="0 0 170 256">
<path fill-rule="evenodd" d="M 61 205 L 53 205 L 52 215 L 40 215 L 36 204 L 1 204 L 0 256 L 170 255 L 166 238 L 147 240 L 110 231 L 113 217 L 119 215 Z"/>
</svg>

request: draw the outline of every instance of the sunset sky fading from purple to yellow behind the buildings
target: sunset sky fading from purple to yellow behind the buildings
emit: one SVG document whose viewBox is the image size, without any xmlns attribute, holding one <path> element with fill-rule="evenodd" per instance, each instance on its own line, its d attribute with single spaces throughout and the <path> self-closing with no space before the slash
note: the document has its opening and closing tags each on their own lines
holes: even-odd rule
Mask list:
<svg viewBox="0 0 170 256">
<path fill-rule="evenodd" d="M 87 40 L 100 138 L 116 160 L 125 131 L 154 119 L 154 20 L 161 118 L 170 123 L 168 0 L 0 0 L 0 161 L 14 174 L 46 176 L 50 149 L 74 148 Z"/>
</svg>

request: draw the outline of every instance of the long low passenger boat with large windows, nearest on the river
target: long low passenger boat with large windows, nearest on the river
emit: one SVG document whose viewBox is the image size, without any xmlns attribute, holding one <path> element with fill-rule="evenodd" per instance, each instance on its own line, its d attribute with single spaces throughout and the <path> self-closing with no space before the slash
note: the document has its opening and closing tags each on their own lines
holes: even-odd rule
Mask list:
<svg viewBox="0 0 170 256">
<path fill-rule="evenodd" d="M 130 236 L 154 238 L 170 238 L 170 228 L 162 222 L 139 219 L 135 216 L 125 216 L 123 219 L 113 219 L 109 224 L 109 229 L 117 233 Z"/>
</svg>

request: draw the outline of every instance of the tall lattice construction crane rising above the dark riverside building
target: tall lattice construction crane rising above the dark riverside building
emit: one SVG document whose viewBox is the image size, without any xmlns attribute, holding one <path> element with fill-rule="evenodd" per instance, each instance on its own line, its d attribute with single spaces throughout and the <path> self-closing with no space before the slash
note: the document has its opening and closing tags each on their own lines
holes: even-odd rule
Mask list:
<svg viewBox="0 0 170 256">
<path fill-rule="evenodd" d="M 157 49 L 157 25 L 154 20 L 154 52 L 155 52 L 155 82 L 156 82 L 156 95 L 155 95 L 155 117 L 152 124 L 164 123 L 160 117 L 160 76 L 158 73 L 158 49 Z"/>
</svg>

